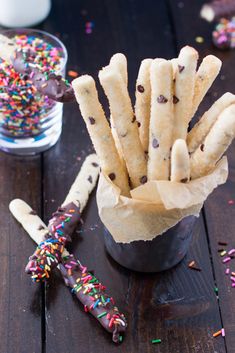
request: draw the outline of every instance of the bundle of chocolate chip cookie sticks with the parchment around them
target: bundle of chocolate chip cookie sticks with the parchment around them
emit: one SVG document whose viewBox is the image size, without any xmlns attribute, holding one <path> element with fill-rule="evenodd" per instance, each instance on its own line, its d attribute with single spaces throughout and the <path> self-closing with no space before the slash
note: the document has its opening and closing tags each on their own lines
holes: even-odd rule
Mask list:
<svg viewBox="0 0 235 353">
<path fill-rule="evenodd" d="M 221 157 L 235 135 L 235 96 L 224 94 L 188 133 L 221 68 L 213 55 L 197 63 L 189 46 L 172 60 L 143 60 L 133 108 L 126 58 L 114 55 L 99 72 L 111 127 L 94 79 L 84 75 L 72 82 L 102 170 L 99 214 L 118 242 L 153 239 L 183 217 L 198 215 L 227 178 Z"/>
</svg>

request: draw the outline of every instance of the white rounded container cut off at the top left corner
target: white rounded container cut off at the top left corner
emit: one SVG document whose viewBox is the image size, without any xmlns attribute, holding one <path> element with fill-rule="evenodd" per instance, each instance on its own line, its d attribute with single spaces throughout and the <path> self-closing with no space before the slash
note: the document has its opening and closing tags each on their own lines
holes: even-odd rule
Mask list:
<svg viewBox="0 0 235 353">
<path fill-rule="evenodd" d="M 51 0 L 0 0 L 0 24 L 29 27 L 43 21 L 50 12 Z"/>
</svg>

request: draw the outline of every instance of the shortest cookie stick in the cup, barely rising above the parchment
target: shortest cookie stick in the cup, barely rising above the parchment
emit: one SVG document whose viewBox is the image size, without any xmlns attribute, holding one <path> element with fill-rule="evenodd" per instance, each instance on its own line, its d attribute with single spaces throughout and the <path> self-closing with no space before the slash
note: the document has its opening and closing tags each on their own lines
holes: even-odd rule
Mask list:
<svg viewBox="0 0 235 353">
<path fill-rule="evenodd" d="M 184 140 L 176 140 L 171 152 L 171 181 L 187 183 L 190 178 L 189 153 Z"/>
</svg>

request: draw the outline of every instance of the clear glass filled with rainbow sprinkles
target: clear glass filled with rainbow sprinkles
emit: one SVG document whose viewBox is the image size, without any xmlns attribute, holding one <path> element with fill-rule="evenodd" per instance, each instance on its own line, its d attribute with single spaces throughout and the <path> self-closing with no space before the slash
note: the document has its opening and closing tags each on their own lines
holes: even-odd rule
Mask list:
<svg viewBox="0 0 235 353">
<path fill-rule="evenodd" d="M 23 52 L 32 52 L 43 75 L 65 76 L 67 50 L 53 35 L 34 29 L 2 32 Z M 30 75 L 0 60 L 0 149 L 18 155 L 47 150 L 59 139 L 63 104 L 42 95 Z"/>
</svg>

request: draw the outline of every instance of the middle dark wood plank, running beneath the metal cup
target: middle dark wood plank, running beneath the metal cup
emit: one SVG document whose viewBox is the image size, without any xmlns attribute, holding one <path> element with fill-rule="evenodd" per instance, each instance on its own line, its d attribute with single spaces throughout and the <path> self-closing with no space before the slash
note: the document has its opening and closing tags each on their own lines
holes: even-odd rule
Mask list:
<svg viewBox="0 0 235 353">
<path fill-rule="evenodd" d="M 71 9 L 74 13 L 72 18 Z M 87 11 L 84 17 L 81 12 Z M 76 14 L 76 17 L 75 17 Z M 69 66 L 80 73 L 96 75 L 110 56 L 124 52 L 129 61 L 133 95 L 138 65 L 144 57 L 173 57 L 175 45 L 164 1 L 98 1 L 54 3 L 54 14 L 45 29 L 64 33 L 69 49 Z M 85 22 L 94 21 L 94 33 L 85 34 Z M 103 97 L 103 95 L 102 95 Z M 104 99 L 102 99 L 104 102 Z M 107 107 L 107 104 L 106 104 Z M 91 143 L 76 105 L 66 106 L 60 142 L 44 154 L 45 219 L 55 210 L 73 181 L 80 158 L 90 152 Z M 117 265 L 106 255 L 102 225 L 95 195 L 84 213 L 84 226 L 71 249 L 107 285 L 118 306 L 128 315 L 125 342 L 117 348 L 111 336 L 94 318 L 83 312 L 59 276 L 54 275 L 46 290 L 46 351 L 48 353 L 116 352 L 225 352 L 224 342 L 212 339 L 220 323 L 213 292 L 208 245 L 202 220 L 194 232 L 188 257 L 176 268 L 162 274 L 137 274 Z M 188 269 L 196 259 L 202 272 Z M 162 338 L 162 344 L 150 340 Z"/>
</svg>

